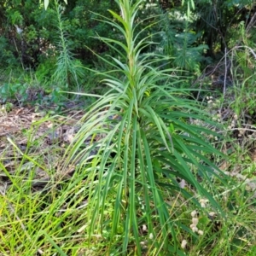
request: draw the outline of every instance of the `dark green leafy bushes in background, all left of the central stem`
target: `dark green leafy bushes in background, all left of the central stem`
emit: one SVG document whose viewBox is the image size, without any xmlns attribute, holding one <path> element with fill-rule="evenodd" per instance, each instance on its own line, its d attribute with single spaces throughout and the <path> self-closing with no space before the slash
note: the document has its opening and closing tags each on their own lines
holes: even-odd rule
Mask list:
<svg viewBox="0 0 256 256">
<path fill-rule="evenodd" d="M 107 35 L 112 30 L 93 20 L 94 15 L 90 11 L 108 14 L 107 9 L 110 9 L 112 5 L 113 3 L 109 1 L 95 4 L 91 0 L 71 2 L 62 7 L 60 5 L 61 31 L 65 33 L 67 47 L 71 49 L 76 59 L 92 64 L 93 55 L 86 47 L 96 52 L 108 50 L 102 49 L 102 44 L 93 37 L 97 32 Z M 4 59 L 0 65 L 5 66 L 5 63 L 11 62 L 19 66 L 21 60 L 25 68 L 36 68 L 45 59 L 63 54 L 61 52 L 63 40 L 58 34 L 61 32 L 60 27 L 56 33 L 55 26 L 58 17 L 55 11 L 55 1 L 50 1 L 47 10 L 37 1 L 26 0 L 22 4 L 16 3 L 15 0 L 3 1 L 0 23 L 0 58 L 3 56 Z M 16 26 L 22 30 L 20 34 Z M 59 21 L 57 21 L 57 26 L 60 26 Z"/>
</svg>

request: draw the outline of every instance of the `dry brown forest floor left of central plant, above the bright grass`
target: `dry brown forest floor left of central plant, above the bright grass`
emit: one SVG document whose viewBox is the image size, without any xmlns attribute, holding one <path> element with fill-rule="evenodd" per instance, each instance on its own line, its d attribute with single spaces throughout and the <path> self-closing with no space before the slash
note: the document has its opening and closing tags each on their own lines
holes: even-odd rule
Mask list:
<svg viewBox="0 0 256 256">
<path fill-rule="evenodd" d="M 42 153 L 44 155 L 44 152 L 54 150 L 55 154 L 51 154 L 51 158 L 54 159 L 50 162 L 55 163 L 53 167 L 60 165 L 63 151 L 72 143 L 75 133 L 79 131 L 79 120 L 83 117 L 84 110 L 70 108 L 60 114 L 47 112 L 50 112 L 49 108 L 37 111 L 34 107 L 20 108 L 15 105 L 12 105 L 12 109 L 2 108 L 0 111 L 0 155 L 9 175 L 15 174 L 17 165 L 22 165 L 19 166 L 20 170 L 29 170 L 30 166 L 22 157 L 28 150 L 32 152 L 32 157 L 36 157 L 37 154 L 42 156 Z M 60 148 L 57 154 L 56 148 Z M 44 165 L 49 165 L 49 157 L 43 159 Z M 48 180 L 47 172 L 38 167 L 32 187 L 47 183 Z M 9 177 L 4 172 L 0 175 L 0 187 L 1 183 L 5 188 L 9 186 Z"/>
</svg>

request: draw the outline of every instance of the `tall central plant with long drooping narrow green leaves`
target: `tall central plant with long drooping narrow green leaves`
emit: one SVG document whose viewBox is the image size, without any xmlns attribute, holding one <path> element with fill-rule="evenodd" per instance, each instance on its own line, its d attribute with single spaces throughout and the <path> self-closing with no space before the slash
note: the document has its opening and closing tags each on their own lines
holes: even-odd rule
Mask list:
<svg viewBox="0 0 256 256">
<path fill-rule="evenodd" d="M 163 57 L 141 54 L 152 44 L 148 38 L 137 40 L 143 32 L 137 31 L 136 19 L 142 2 L 116 1 L 120 15 L 110 10 L 114 21 L 104 20 L 119 31 L 125 43 L 101 38 L 117 56 L 102 59 L 113 67 L 100 73 L 110 90 L 97 96 L 99 100 L 87 110 L 67 157 L 68 163 L 77 166 L 75 175 L 84 177 L 88 191 L 84 223 L 89 226 L 90 239 L 102 232 L 108 238 L 109 252 L 116 255 L 121 251 L 126 255 L 132 241 L 141 255 L 145 240 L 148 249 L 163 246 L 166 253 L 178 251 L 178 224 L 171 218 L 166 194 L 181 193 L 192 200 L 202 195 L 218 207 L 196 178 L 217 176 L 214 170 L 218 168 L 206 154 L 218 151 L 203 136 L 216 134 L 189 124 L 189 120 L 207 119 L 196 102 L 182 97 L 186 91 L 174 86 L 180 83 L 171 75 L 174 70 L 155 67 Z M 194 189 L 182 188 L 177 178 Z M 140 236 L 143 224 L 147 236 Z M 120 242 L 122 250 L 117 251 Z"/>
</svg>

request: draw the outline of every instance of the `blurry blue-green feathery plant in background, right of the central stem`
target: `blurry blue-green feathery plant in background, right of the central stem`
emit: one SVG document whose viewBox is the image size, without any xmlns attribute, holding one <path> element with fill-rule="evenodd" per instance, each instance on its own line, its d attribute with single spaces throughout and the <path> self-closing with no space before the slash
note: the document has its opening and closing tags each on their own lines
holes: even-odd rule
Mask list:
<svg viewBox="0 0 256 256">
<path fill-rule="evenodd" d="M 195 34 L 191 26 L 195 18 L 185 15 L 184 9 L 174 9 L 161 17 L 160 52 L 174 59 L 170 60 L 171 67 L 200 73 L 201 63 L 209 61 L 203 56 L 208 47 L 197 43 L 201 34 Z"/>
</svg>

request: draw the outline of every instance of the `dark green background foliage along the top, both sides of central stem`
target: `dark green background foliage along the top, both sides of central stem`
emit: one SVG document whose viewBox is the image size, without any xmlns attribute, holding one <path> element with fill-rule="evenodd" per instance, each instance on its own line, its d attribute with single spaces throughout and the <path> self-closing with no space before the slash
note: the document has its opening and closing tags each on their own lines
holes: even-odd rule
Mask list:
<svg viewBox="0 0 256 256">
<path fill-rule="evenodd" d="M 201 64 L 199 62 L 207 61 L 203 57 L 207 46 L 210 55 L 218 49 L 223 50 L 224 46 L 229 45 L 234 34 L 233 30 L 236 30 L 241 20 L 246 26 L 252 25 L 250 19 L 253 17 L 253 8 L 253 3 L 249 0 L 238 2 L 222 0 L 216 3 L 201 1 L 196 3 L 196 6 L 193 1 L 182 3 L 145 1 L 138 11 L 137 20 L 143 20 L 142 27 L 150 26 L 148 32 L 151 37 L 154 37 L 155 32 L 160 32 L 161 36 L 157 42 L 161 42 L 163 53 L 168 55 L 172 53 L 177 60 L 172 67 L 178 65 L 198 73 Z M 76 59 L 83 63 L 91 65 L 95 61 L 88 48 L 97 54 L 111 52 L 111 48 L 96 40 L 96 34 L 119 38 L 117 31 L 114 31 L 110 24 L 102 24 L 95 19 L 95 13 L 110 18 L 108 9 L 116 10 L 113 1 L 100 1 L 95 4 L 95 1 L 91 0 L 78 0 L 62 6 L 61 24 L 62 32 L 68 34 L 67 47 L 71 49 Z M 163 14 L 161 9 L 165 11 L 164 17 L 161 15 Z M 49 2 L 47 10 L 37 1 L 26 0 L 23 4 L 17 4 L 15 0 L 3 1 L 0 27 L 3 40 L 0 40 L 0 52 L 4 61 L 20 65 L 21 58 L 24 67 L 38 67 L 45 58 L 63 54 L 59 48 L 60 38 L 56 40 L 55 36 L 54 20 L 57 17 L 55 1 Z M 161 22 L 160 25 L 155 26 L 154 22 L 157 20 Z M 23 30 L 21 37 L 16 32 L 15 26 Z M 57 46 L 57 49 L 52 46 Z M 144 50 L 153 51 L 153 49 L 155 47 L 151 45 Z M 13 61 L 13 57 L 16 62 Z"/>
</svg>

